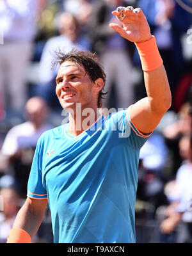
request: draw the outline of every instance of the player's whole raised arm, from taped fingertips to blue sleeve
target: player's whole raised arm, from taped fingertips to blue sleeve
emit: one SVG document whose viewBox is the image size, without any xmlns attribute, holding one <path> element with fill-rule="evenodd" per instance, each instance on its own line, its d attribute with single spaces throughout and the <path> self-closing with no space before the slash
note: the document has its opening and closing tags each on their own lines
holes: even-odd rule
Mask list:
<svg viewBox="0 0 192 256">
<path fill-rule="evenodd" d="M 122 26 L 115 23 L 109 26 L 122 37 L 134 42 L 140 53 L 147 97 L 132 105 L 130 115 L 140 132 L 147 134 L 156 128 L 171 106 L 172 96 L 166 70 L 142 10 L 129 6 L 113 14 L 122 22 Z"/>
</svg>

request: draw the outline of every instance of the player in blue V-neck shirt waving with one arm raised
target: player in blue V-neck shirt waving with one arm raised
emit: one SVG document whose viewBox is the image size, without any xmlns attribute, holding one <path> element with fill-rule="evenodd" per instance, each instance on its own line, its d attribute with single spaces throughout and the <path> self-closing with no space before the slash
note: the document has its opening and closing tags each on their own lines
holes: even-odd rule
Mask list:
<svg viewBox="0 0 192 256">
<path fill-rule="evenodd" d="M 140 148 L 170 108 L 171 94 L 155 38 L 141 9 L 129 6 L 113 14 L 124 27 L 109 26 L 136 42 L 140 51 L 143 70 L 147 70 L 148 97 L 127 110 L 100 115 L 105 76 L 95 54 L 60 54 L 56 94 L 69 112 L 69 122 L 45 132 L 38 141 L 28 198 L 17 214 L 8 243 L 31 241 L 47 199 L 54 243 L 135 243 Z"/>
</svg>

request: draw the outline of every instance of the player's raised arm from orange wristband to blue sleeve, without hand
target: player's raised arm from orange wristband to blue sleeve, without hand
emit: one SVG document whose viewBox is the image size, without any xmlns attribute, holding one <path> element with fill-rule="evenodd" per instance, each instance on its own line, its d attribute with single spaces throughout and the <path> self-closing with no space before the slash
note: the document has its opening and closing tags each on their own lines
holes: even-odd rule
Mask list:
<svg viewBox="0 0 192 256">
<path fill-rule="evenodd" d="M 172 96 L 154 38 L 136 46 L 141 58 L 147 97 L 134 104 L 131 118 L 138 129 L 147 134 L 157 127 L 164 113 L 170 108 Z"/>
</svg>

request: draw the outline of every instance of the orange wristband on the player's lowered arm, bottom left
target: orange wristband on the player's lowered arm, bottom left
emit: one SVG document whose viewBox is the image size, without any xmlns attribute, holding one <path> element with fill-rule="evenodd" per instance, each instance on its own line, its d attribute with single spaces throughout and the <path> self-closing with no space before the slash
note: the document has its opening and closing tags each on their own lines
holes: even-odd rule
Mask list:
<svg viewBox="0 0 192 256">
<path fill-rule="evenodd" d="M 6 243 L 31 243 L 31 237 L 21 228 L 12 228 Z"/>
</svg>

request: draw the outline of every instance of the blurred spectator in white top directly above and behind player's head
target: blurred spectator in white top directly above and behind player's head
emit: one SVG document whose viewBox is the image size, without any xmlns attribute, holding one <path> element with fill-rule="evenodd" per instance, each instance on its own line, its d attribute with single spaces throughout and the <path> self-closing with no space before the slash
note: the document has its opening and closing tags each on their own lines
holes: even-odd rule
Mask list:
<svg viewBox="0 0 192 256">
<path fill-rule="evenodd" d="M 76 17 L 72 14 L 67 12 L 61 14 L 59 31 L 59 36 L 50 38 L 45 44 L 44 51 L 42 52 L 42 58 L 40 60 L 40 84 L 39 86 L 36 86 L 35 89 L 36 94 L 44 97 L 53 107 L 55 104 L 58 104 L 58 100 L 54 93 L 56 84 L 55 78 L 58 70 L 52 68 L 52 60 L 54 59 L 55 51 L 60 49 L 67 53 L 75 46 L 77 46 L 78 49 L 90 49 L 90 42 L 88 38 L 81 35 L 79 23 L 77 22 Z M 45 87 L 46 90 L 44 90 Z"/>
</svg>

